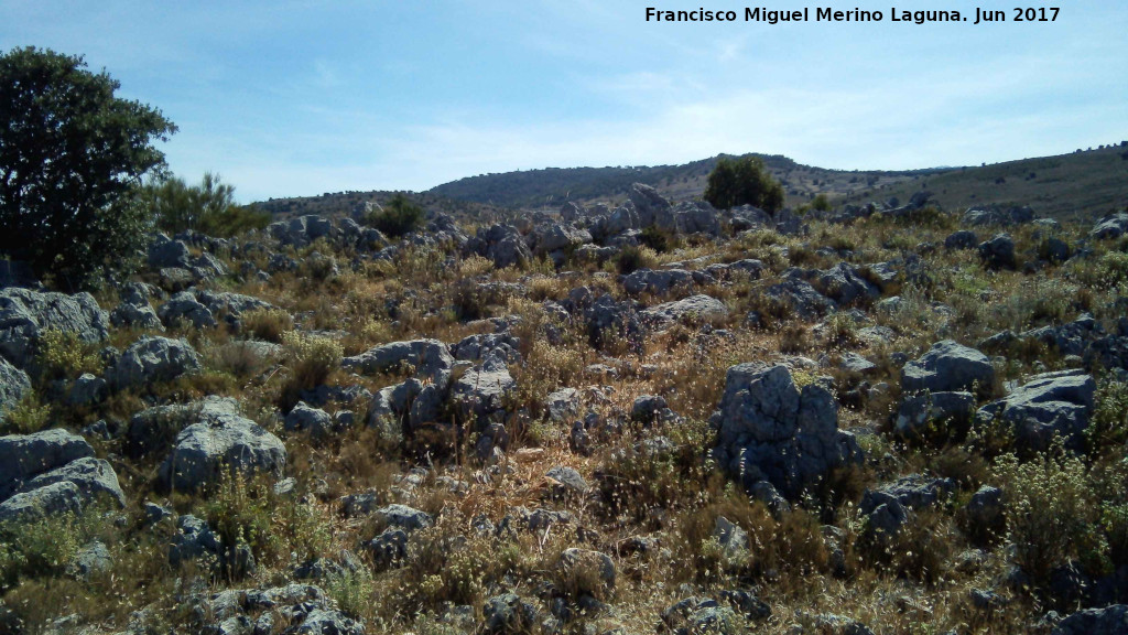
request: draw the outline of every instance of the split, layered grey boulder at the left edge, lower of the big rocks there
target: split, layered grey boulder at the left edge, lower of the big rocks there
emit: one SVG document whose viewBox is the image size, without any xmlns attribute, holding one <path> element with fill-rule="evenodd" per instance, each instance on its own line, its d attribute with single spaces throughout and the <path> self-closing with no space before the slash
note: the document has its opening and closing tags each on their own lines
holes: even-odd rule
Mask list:
<svg viewBox="0 0 1128 635">
<path fill-rule="evenodd" d="M 109 463 L 64 429 L 0 437 L 0 522 L 79 512 L 106 498 L 125 504 Z"/>
</svg>

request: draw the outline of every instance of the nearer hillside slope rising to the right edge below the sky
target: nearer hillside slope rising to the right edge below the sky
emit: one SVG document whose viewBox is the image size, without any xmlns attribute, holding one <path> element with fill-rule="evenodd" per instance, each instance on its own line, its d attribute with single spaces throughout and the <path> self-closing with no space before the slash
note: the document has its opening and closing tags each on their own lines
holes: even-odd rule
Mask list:
<svg viewBox="0 0 1128 635">
<path fill-rule="evenodd" d="M 1052 218 L 1095 218 L 1128 206 L 1128 142 L 918 176 L 845 200 L 907 201 L 919 190 L 928 190 L 944 209 L 954 211 L 989 203 L 1028 205 Z"/>
</svg>

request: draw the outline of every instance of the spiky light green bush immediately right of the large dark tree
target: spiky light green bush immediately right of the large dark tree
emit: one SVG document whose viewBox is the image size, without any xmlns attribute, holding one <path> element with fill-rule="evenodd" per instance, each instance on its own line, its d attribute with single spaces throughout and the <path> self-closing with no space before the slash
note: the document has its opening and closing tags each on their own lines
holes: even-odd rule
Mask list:
<svg viewBox="0 0 1128 635">
<path fill-rule="evenodd" d="M 205 172 L 199 185 L 188 185 L 171 176 L 146 185 L 146 203 L 152 209 L 157 226 L 169 233 L 194 229 L 209 236 L 233 236 L 262 229 L 271 215 L 254 206 L 235 203 L 235 188 Z"/>
</svg>

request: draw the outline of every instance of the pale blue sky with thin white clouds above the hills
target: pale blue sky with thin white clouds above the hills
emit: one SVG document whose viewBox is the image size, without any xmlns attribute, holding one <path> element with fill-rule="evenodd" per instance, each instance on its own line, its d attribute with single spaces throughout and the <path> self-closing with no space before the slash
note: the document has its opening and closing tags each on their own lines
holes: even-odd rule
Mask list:
<svg viewBox="0 0 1128 635">
<path fill-rule="evenodd" d="M 669 165 L 721 153 L 838 169 L 979 165 L 1128 139 L 1128 2 L 0 0 L 0 51 L 82 54 L 179 131 L 190 182 L 240 202 L 426 190 L 478 174 Z M 890 21 L 891 6 L 966 23 Z M 743 21 L 744 7 L 809 23 Z M 880 23 L 817 23 L 817 7 Z M 975 8 L 1007 21 L 972 25 Z"/>
</svg>

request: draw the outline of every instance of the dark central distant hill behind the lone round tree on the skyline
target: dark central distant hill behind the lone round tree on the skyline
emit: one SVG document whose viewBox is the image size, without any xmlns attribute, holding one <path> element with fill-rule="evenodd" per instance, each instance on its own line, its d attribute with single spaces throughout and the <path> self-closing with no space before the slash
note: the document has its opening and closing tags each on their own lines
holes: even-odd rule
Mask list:
<svg viewBox="0 0 1128 635">
<path fill-rule="evenodd" d="M 801 165 L 779 155 L 755 156 L 764 159 L 772 174 L 783 182 L 788 205 L 801 205 L 820 192 L 845 195 L 862 188 L 891 185 L 914 175 L 937 172 L 846 172 Z M 570 200 L 617 202 L 626 198 L 633 183 L 653 185 L 672 199 L 688 199 L 705 191 L 706 179 L 719 158 L 685 165 L 549 167 L 484 174 L 444 183 L 430 191 L 452 199 L 526 209 L 556 208 Z"/>
</svg>

